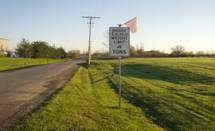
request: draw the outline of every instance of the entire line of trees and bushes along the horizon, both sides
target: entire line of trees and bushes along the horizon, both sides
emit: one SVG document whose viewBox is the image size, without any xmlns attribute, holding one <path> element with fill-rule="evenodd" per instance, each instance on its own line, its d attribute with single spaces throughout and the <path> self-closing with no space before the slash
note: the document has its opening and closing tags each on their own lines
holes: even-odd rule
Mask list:
<svg viewBox="0 0 215 131">
<path fill-rule="evenodd" d="M 45 41 L 33 41 L 30 42 L 26 39 L 22 39 L 16 49 L 16 54 L 18 57 L 24 58 L 80 58 L 82 56 L 86 57 L 87 53 L 82 53 L 80 50 L 70 50 L 66 52 L 62 47 L 56 47 L 50 45 Z M 0 56 L 1 55 L 0 52 Z M 11 56 L 10 52 L 7 52 L 7 56 Z M 108 52 L 94 52 L 93 57 L 98 56 L 109 56 Z M 192 51 L 186 51 L 181 45 L 176 45 L 171 48 L 170 53 L 161 52 L 159 50 L 145 51 L 143 46 L 134 47 L 130 46 L 130 56 L 131 57 L 215 57 L 215 52 L 203 52 L 198 51 L 193 53 Z"/>
</svg>

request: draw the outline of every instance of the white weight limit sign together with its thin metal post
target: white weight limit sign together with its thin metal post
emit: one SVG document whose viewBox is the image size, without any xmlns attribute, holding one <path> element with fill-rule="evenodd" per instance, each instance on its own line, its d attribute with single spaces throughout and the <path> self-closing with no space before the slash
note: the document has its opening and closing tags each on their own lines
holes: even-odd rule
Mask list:
<svg viewBox="0 0 215 131">
<path fill-rule="evenodd" d="M 119 60 L 119 108 L 121 108 L 121 95 L 122 95 L 122 57 L 130 55 L 130 30 L 128 27 L 110 27 L 109 28 L 109 43 L 110 43 L 110 56 L 118 57 Z"/>
</svg>

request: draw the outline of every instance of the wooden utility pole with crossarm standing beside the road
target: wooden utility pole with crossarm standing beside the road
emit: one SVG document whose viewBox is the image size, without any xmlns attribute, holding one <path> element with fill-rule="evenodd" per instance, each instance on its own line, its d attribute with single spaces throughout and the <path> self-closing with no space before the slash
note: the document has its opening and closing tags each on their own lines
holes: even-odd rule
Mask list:
<svg viewBox="0 0 215 131">
<path fill-rule="evenodd" d="M 88 60 L 87 63 L 90 65 L 90 60 L 91 60 L 91 28 L 92 28 L 92 20 L 93 19 L 99 19 L 100 17 L 95 17 L 95 16 L 82 16 L 82 18 L 87 18 L 89 19 L 89 45 L 88 45 Z"/>
</svg>

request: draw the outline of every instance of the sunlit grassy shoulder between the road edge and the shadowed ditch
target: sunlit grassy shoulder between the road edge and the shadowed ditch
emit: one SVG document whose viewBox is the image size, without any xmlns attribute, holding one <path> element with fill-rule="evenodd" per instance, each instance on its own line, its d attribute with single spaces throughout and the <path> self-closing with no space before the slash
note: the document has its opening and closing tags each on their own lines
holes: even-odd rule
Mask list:
<svg viewBox="0 0 215 131">
<path fill-rule="evenodd" d="M 91 81 L 93 79 L 99 81 Z M 117 108 L 118 96 L 108 80 L 97 70 L 80 68 L 58 95 L 28 116 L 17 130 L 162 130 L 148 120 L 142 110 L 123 99 Z"/>
</svg>

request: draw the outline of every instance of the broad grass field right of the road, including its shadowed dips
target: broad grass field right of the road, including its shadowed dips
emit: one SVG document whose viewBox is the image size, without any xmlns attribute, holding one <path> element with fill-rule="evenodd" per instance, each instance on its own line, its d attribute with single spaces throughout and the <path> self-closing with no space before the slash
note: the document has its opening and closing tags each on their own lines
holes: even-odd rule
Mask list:
<svg viewBox="0 0 215 131">
<path fill-rule="evenodd" d="M 125 59 L 81 67 L 16 130 L 215 130 L 215 59 Z"/>
</svg>

